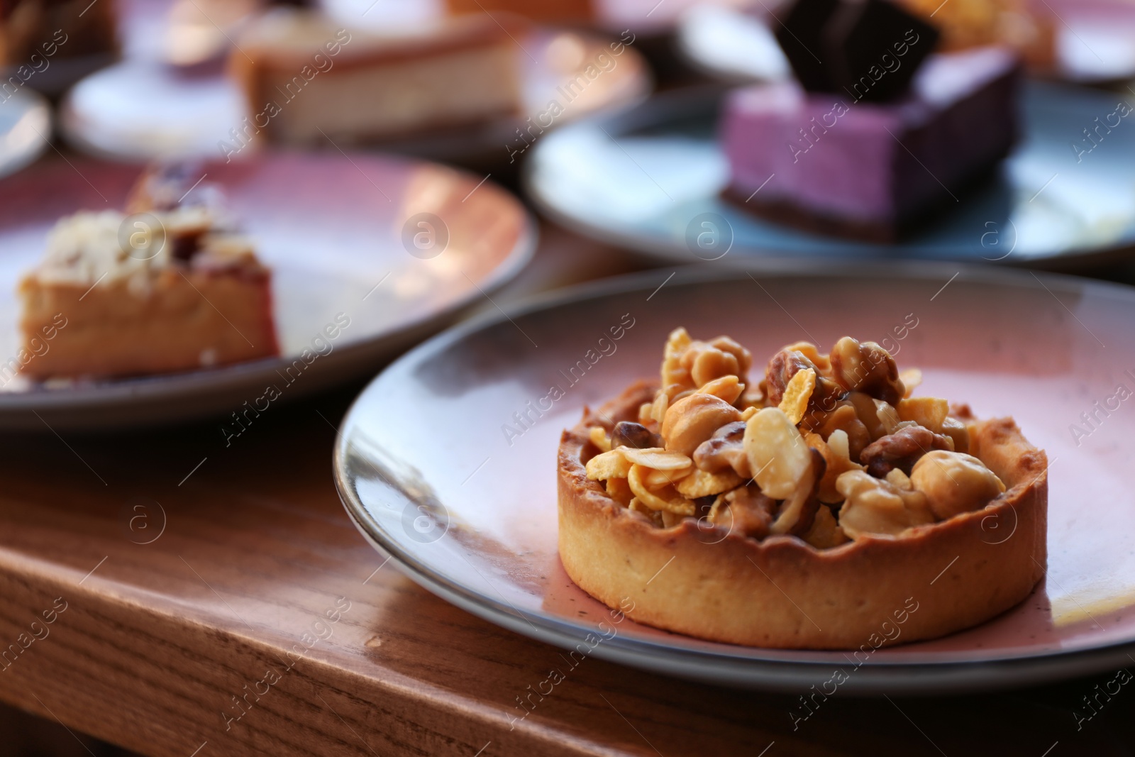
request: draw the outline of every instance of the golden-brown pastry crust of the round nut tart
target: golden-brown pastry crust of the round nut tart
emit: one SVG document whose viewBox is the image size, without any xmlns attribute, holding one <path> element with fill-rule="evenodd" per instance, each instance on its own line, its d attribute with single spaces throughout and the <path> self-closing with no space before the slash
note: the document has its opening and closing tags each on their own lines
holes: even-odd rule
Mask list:
<svg viewBox="0 0 1135 757">
<path fill-rule="evenodd" d="M 985 507 L 901 537 L 831 549 L 762 541 L 686 519 L 657 528 L 607 496 L 585 465 L 588 428 L 637 420 L 656 387 L 638 382 L 563 434 L 558 453 L 560 558 L 585 591 L 638 622 L 713 641 L 855 649 L 932 639 L 977 625 L 1024 600 L 1044 575 L 1048 459 L 1010 418 L 973 421 L 970 454 L 1004 482 Z M 899 633 L 897 613 L 905 613 Z M 884 623 L 886 625 L 884 626 Z"/>
</svg>

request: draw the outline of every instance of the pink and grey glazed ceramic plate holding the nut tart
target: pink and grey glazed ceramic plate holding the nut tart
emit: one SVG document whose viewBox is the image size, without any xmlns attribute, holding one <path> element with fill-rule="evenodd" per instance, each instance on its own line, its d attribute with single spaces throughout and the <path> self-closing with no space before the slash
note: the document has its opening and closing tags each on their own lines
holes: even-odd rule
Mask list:
<svg viewBox="0 0 1135 757">
<path fill-rule="evenodd" d="M 896 352 L 900 367 L 923 370 L 919 393 L 969 402 L 980 417 L 1012 415 L 1048 452 L 1048 577 L 1033 595 L 981 626 L 880 649 L 859 666 L 844 653 L 713 644 L 630 622 L 597 646 L 591 636 L 591 654 L 801 693 L 834 667 L 848 672 L 848 690 L 943 693 L 1128 664 L 1135 289 L 941 263 L 792 266 L 613 279 L 426 342 L 375 379 L 340 427 L 335 471 L 347 511 L 430 591 L 574 647 L 608 616 L 556 552 L 556 447 L 585 405 L 656 375 L 679 325 L 767 356 L 799 339 L 882 339 L 914 322 Z M 602 340 L 615 326 L 622 338 Z M 549 401 L 552 387 L 562 396 Z M 1012 524 L 990 524 L 985 537 L 995 549 Z M 933 602 L 933 588 L 919 599 Z"/>
</svg>

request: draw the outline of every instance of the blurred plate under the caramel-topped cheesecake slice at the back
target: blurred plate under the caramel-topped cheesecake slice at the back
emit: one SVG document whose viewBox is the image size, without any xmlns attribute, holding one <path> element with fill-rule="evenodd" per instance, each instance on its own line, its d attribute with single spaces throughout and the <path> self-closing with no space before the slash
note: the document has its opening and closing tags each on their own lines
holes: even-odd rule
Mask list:
<svg viewBox="0 0 1135 757">
<path fill-rule="evenodd" d="M 617 56 L 612 54 L 613 41 L 548 30 L 518 41 L 526 117 L 533 124 L 547 125 L 553 117 L 556 123 L 568 123 L 646 98 L 650 76 L 641 56 L 627 45 Z M 580 76 L 586 86 L 577 84 L 564 94 L 561 87 Z M 552 101 L 558 103 L 558 110 L 550 108 Z M 59 121 L 70 144 L 99 157 L 135 161 L 165 155 L 216 158 L 224 154 L 217 143 L 232 141 L 229 132 L 239 129 L 245 109 L 236 82 L 220 75 L 178 73 L 140 57 L 76 84 L 60 107 Z M 451 162 L 485 162 L 488 155 L 507 163 L 527 149 L 529 142 L 516 133 L 527 127 L 523 118 L 505 118 L 379 146 Z"/>
</svg>

